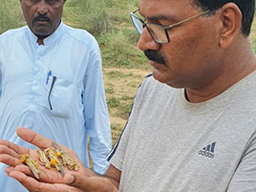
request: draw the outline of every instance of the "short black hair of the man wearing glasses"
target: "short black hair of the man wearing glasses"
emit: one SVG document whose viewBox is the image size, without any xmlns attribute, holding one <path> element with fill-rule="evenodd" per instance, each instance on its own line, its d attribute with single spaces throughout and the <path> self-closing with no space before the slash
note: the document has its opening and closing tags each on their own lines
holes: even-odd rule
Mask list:
<svg viewBox="0 0 256 192">
<path fill-rule="evenodd" d="M 193 0 L 196 6 L 202 8 L 203 11 L 224 6 L 226 3 L 236 4 L 242 12 L 242 33 L 248 36 L 255 11 L 255 0 Z"/>
</svg>

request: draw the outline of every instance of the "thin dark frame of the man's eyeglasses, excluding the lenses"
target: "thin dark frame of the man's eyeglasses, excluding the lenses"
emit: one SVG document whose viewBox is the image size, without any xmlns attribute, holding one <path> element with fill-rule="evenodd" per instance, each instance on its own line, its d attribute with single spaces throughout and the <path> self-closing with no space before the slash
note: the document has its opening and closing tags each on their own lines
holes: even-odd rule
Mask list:
<svg viewBox="0 0 256 192">
<path fill-rule="evenodd" d="M 170 29 L 172 29 L 172 28 L 174 28 L 174 27 L 176 27 L 176 26 L 178 26 L 178 25 L 181 25 L 182 23 L 184 23 L 184 22 L 186 22 L 186 21 L 190 21 L 191 19 L 194 19 L 194 18 L 197 18 L 197 17 L 199 17 L 199 16 L 202 16 L 203 14 L 206 14 L 206 13 L 208 13 L 208 12 L 210 12 L 210 11 L 216 11 L 216 10 L 222 8 L 222 7 L 223 7 L 223 6 L 218 6 L 218 7 L 215 7 L 215 8 L 213 8 L 213 9 L 210 9 L 210 10 L 207 10 L 207 11 L 203 11 L 203 12 L 201 12 L 201 13 L 199 13 L 199 14 L 196 14 L 196 15 L 194 15 L 194 16 L 192 16 L 192 17 L 189 17 L 189 18 L 187 18 L 187 19 L 184 19 L 184 20 L 182 20 L 182 21 L 180 21 L 180 22 L 178 22 L 178 23 L 175 23 L 175 24 L 172 24 L 172 25 L 169 25 L 169 26 L 164 26 L 164 25 L 160 25 L 160 24 L 156 24 L 156 23 L 145 23 L 141 18 L 139 18 L 137 15 L 135 15 L 135 13 L 136 13 L 137 11 L 139 11 L 139 9 L 130 12 L 130 17 L 131 17 L 131 19 L 132 19 L 132 22 L 133 22 L 133 24 L 134 24 L 134 26 L 135 26 L 137 32 L 139 32 L 139 29 L 136 27 L 136 24 L 135 24 L 135 22 L 134 22 L 133 17 L 141 22 L 143 29 L 146 27 L 147 31 L 149 32 L 150 36 L 152 37 L 152 39 L 153 39 L 155 42 L 160 43 L 160 44 L 167 44 L 167 43 L 170 42 L 170 37 L 169 37 L 169 34 L 168 34 L 168 30 L 170 30 Z M 156 40 L 155 37 L 153 36 L 153 34 L 150 32 L 150 29 L 148 28 L 147 24 L 155 25 L 155 26 L 158 26 L 158 27 L 162 28 L 162 29 L 164 30 L 164 32 L 165 32 L 166 37 L 167 37 L 167 42 L 166 42 L 166 43 L 165 43 L 165 42 L 162 43 L 162 42 Z M 142 33 L 142 31 L 139 32 L 140 35 L 141 35 L 141 33 Z"/>
</svg>

